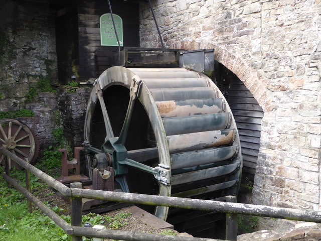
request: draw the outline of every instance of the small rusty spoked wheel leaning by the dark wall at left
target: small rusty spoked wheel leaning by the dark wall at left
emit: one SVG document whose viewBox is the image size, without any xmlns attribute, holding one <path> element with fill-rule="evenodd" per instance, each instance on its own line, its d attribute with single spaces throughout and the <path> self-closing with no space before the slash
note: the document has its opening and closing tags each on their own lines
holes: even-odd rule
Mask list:
<svg viewBox="0 0 321 241">
<path fill-rule="evenodd" d="M 29 158 L 30 162 L 35 160 L 38 155 L 39 145 L 37 137 L 32 131 L 17 119 L 0 119 L 0 144 L 7 150 L 25 160 Z M 0 164 L 4 164 L 5 156 L 0 153 Z M 19 165 L 10 160 L 10 166 Z"/>
</svg>

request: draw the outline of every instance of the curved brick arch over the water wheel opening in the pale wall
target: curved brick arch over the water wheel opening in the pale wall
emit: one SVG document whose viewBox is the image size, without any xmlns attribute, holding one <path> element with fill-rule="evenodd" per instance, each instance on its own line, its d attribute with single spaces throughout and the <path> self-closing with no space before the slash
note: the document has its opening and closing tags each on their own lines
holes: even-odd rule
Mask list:
<svg viewBox="0 0 321 241">
<path fill-rule="evenodd" d="M 214 59 L 232 71 L 244 83 L 264 112 L 272 111 L 275 108 L 272 98 L 270 97 L 270 90 L 266 88 L 267 79 L 258 77 L 256 70 L 224 47 L 211 43 L 202 45 L 201 47 L 200 43 L 196 43 L 195 41 L 183 41 L 180 47 L 189 50 L 202 48 L 214 49 Z"/>
</svg>

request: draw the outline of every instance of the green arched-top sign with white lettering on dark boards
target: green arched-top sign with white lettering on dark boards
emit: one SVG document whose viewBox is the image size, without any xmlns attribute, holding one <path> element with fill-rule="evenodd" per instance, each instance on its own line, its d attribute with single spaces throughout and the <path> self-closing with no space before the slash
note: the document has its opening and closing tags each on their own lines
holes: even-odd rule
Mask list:
<svg viewBox="0 0 321 241">
<path fill-rule="evenodd" d="M 120 46 L 124 46 L 122 37 L 122 19 L 116 14 L 113 14 L 112 16 L 114 17 Z M 102 46 L 118 46 L 111 14 L 103 14 L 100 17 L 100 44 Z"/>
</svg>

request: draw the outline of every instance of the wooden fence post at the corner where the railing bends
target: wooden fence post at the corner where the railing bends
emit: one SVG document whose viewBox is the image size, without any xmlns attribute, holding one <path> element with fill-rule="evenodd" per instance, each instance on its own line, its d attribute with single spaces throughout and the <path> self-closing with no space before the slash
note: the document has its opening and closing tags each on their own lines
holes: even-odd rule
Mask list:
<svg viewBox="0 0 321 241">
<path fill-rule="evenodd" d="M 81 182 L 70 183 L 70 188 L 82 188 Z M 71 225 L 81 226 L 82 225 L 82 198 L 76 198 L 71 195 Z M 82 241 L 82 236 L 71 236 L 71 241 Z"/>
</svg>

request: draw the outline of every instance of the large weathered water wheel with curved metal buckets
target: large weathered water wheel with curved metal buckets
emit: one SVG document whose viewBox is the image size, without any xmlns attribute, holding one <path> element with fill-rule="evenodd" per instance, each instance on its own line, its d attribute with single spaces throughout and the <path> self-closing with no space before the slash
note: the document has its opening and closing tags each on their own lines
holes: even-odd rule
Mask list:
<svg viewBox="0 0 321 241">
<path fill-rule="evenodd" d="M 123 191 L 211 200 L 237 194 L 236 124 L 223 94 L 201 73 L 109 68 L 91 92 L 84 139 L 102 152 L 120 150 L 112 166 Z M 149 211 L 166 219 L 169 209 Z"/>
</svg>

